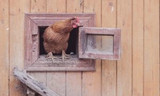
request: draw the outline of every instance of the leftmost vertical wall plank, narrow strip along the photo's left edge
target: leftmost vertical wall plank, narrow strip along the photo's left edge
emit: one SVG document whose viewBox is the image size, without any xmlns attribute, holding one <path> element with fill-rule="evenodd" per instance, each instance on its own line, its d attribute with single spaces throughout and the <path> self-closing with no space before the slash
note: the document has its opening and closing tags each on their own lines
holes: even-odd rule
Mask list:
<svg viewBox="0 0 160 96">
<path fill-rule="evenodd" d="M 0 96 L 9 96 L 9 1 L 0 2 Z"/>
</svg>

